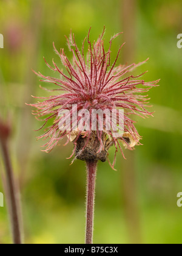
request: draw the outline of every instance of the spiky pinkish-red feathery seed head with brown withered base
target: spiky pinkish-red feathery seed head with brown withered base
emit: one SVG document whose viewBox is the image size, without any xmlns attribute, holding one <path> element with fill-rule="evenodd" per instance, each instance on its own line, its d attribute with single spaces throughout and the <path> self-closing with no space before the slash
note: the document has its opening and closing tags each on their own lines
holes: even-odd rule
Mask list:
<svg viewBox="0 0 182 256">
<path fill-rule="evenodd" d="M 71 32 L 70 37 L 66 38 L 69 50 L 73 54 L 72 61 L 67 58 L 64 49 L 58 52 L 53 44 L 55 52 L 59 55 L 62 65 L 66 68 L 67 72 L 63 73 L 62 69 L 59 69 L 54 61 L 53 67 L 45 61 L 49 68 L 59 74 L 59 78 L 36 73 L 41 77 L 41 81 L 58 86 L 56 95 L 47 98 L 38 98 L 41 102 L 30 104 L 37 108 L 33 114 L 36 115 L 38 119 L 41 118 L 41 120 L 44 121 L 44 125 L 41 129 L 45 127 L 48 121 L 50 123 L 50 120 L 52 120 L 51 126 L 47 127 L 45 133 L 38 137 L 44 138 L 45 140 L 48 139 L 47 143 L 44 145 L 46 152 L 53 149 L 62 138 L 67 137 L 67 143 L 72 141 L 74 144 L 71 157 L 75 154 L 75 158 L 80 160 L 101 160 L 105 162 L 108 158 L 110 146 L 114 145 L 116 152 L 119 148 L 123 154 L 120 142 L 123 143 L 124 147 L 129 149 L 132 149 L 136 144 L 140 144 L 139 140 L 141 137 L 135 128 L 135 121 L 133 121 L 130 116 L 132 114 L 142 117 L 152 115 L 152 113 L 146 110 L 147 101 L 149 99 L 147 99 L 147 95 L 144 96 L 143 93 L 146 93 L 153 86 L 157 86 L 159 80 L 144 82 L 144 80 L 140 79 L 144 73 L 139 76 L 133 76 L 131 74 L 134 68 L 144 62 L 138 63 L 137 65 L 133 63 L 128 66 L 116 66 L 121 48 L 124 44 L 120 47 L 114 62 L 111 63 L 112 41 L 122 33 L 112 37 L 109 42 L 109 49 L 106 50 L 103 40 L 104 32 L 105 28 L 103 34 L 99 35 L 98 40 L 96 42 L 94 41 L 92 44 L 89 39 L 89 30 L 88 36 L 83 41 L 81 51 L 76 45 L 75 35 Z M 110 130 L 100 130 L 98 129 L 98 125 L 96 125 L 96 130 L 94 131 L 92 129 L 79 130 L 78 127 L 75 129 L 75 124 L 77 125 L 81 119 L 81 116 L 77 115 L 78 112 L 80 110 L 88 110 L 90 116 L 92 116 L 91 113 L 93 109 L 103 111 L 106 109 L 110 111 L 113 109 L 123 109 L 122 135 L 116 137 L 115 134 L 113 134 L 112 128 L 110 128 Z M 64 124 L 68 116 L 67 114 L 60 115 L 61 110 L 69 110 L 69 118 L 77 116 L 76 119 L 72 119 L 70 129 L 67 129 L 68 127 Z M 96 119 L 99 123 L 99 116 L 97 116 Z M 118 116 L 116 119 L 118 120 Z M 90 122 L 91 121 L 92 120 L 90 120 Z M 63 129 L 60 129 L 60 122 Z M 106 128 L 106 120 L 104 127 Z M 115 158 L 112 168 L 115 163 Z"/>
</svg>

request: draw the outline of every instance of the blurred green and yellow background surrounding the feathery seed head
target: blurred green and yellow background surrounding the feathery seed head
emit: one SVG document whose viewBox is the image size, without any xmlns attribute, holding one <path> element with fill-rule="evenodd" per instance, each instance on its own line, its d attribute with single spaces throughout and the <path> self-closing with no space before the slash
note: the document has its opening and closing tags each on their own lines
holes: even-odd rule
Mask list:
<svg viewBox="0 0 182 256">
<path fill-rule="evenodd" d="M 32 69 L 51 74 L 45 66 L 53 51 L 67 49 L 70 29 L 78 46 L 92 26 L 91 39 L 106 26 L 106 47 L 113 34 L 123 31 L 112 47 L 113 59 L 124 41 L 118 63 L 149 61 L 146 81 L 161 79 L 150 90 L 155 115 L 137 118 L 143 146 L 118 153 L 116 169 L 99 163 L 96 180 L 94 243 L 182 243 L 181 67 L 180 0 L 1 0 L 0 115 L 12 124 L 11 158 L 19 180 L 25 243 L 84 243 L 86 171 L 84 162 L 70 166 L 72 144 L 52 152 L 40 151 L 41 124 L 34 119 L 31 95 L 50 95 L 39 88 Z M 44 85 L 45 86 L 45 85 Z M 50 87 L 50 85 L 46 85 Z M 112 149 L 113 150 L 113 149 Z M 113 151 L 110 151 L 110 157 Z M 4 165 L 0 162 L 1 174 Z M 2 180 L 0 191 L 4 191 Z M 0 243 L 11 243 L 7 204 L 0 208 Z"/>
</svg>

